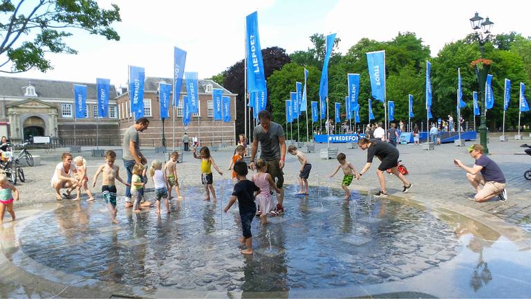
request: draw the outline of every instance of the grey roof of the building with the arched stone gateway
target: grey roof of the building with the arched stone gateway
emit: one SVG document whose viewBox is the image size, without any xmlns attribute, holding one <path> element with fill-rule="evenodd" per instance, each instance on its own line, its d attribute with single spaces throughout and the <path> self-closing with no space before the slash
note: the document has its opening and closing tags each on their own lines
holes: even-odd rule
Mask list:
<svg viewBox="0 0 531 299">
<path fill-rule="evenodd" d="M 73 84 L 86 85 L 87 99 L 95 100 L 97 98 L 95 83 L 15 78 L 3 76 L 0 76 L 0 96 L 28 98 L 28 96 L 25 95 L 25 87 L 31 85 L 32 87 L 35 87 L 35 93 L 37 93 L 37 96 L 30 96 L 30 98 L 72 99 L 74 97 L 74 92 L 72 88 Z M 116 96 L 118 96 L 113 84 L 111 84 L 109 93 L 109 98 L 111 99 L 116 98 Z"/>
</svg>

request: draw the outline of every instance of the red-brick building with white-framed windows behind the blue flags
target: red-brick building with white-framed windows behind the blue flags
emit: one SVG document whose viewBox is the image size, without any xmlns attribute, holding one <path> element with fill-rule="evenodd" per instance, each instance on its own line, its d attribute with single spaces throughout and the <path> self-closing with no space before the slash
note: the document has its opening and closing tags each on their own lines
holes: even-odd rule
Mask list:
<svg viewBox="0 0 531 299">
<path fill-rule="evenodd" d="M 234 144 L 236 132 L 234 118 L 236 116 L 236 94 L 224 89 L 220 84 L 212 80 L 198 80 L 199 114 L 194 114 L 187 127 L 183 125 L 183 96 L 187 95 L 185 80 L 180 91 L 179 106 L 170 108 L 169 118 L 164 122 L 160 119 L 160 101 L 158 98 L 158 83 L 173 83 L 170 78 L 145 78 L 144 82 L 144 116 L 149 118 L 149 128 L 141 134 L 140 142 L 145 146 L 160 146 L 162 138 L 166 140 L 166 146 L 183 145 L 182 137 L 185 132 L 190 137 L 198 136 L 202 145 Z M 214 121 L 214 108 L 212 105 L 212 89 L 223 89 L 223 96 L 230 97 L 231 121 Z M 172 95 L 173 97 L 173 89 Z M 135 123 L 131 114 L 129 92 L 124 92 L 116 99 L 118 102 L 118 115 L 120 132 Z M 174 118 L 175 112 L 175 118 Z M 174 126 L 175 119 L 175 126 Z M 175 132 L 175 139 L 174 137 Z"/>
</svg>

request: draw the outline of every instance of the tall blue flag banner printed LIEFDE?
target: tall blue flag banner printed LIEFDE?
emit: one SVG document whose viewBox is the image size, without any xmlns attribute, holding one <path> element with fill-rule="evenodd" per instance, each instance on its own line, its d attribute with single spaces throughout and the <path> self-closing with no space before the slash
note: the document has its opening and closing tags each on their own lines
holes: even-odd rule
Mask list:
<svg viewBox="0 0 531 299">
<path fill-rule="evenodd" d="M 263 91 L 265 74 L 263 71 L 262 50 L 258 34 L 258 13 L 253 12 L 245 18 L 245 51 L 247 52 L 247 90 Z"/>
</svg>

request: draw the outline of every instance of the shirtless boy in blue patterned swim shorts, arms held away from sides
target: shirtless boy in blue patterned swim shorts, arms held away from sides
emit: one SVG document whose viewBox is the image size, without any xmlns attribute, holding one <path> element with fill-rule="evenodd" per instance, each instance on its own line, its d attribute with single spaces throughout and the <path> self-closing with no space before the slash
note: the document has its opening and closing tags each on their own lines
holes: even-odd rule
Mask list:
<svg viewBox="0 0 531 299">
<path fill-rule="evenodd" d="M 120 177 L 120 167 L 114 164 L 116 160 L 116 153 L 108 150 L 105 152 L 105 164 L 97 168 L 96 173 L 92 179 L 92 186 L 96 186 L 97 176 L 102 174 L 102 197 L 105 200 L 105 204 L 111 213 L 111 221 L 113 224 L 118 224 L 116 220 L 116 214 L 118 209 L 116 208 L 116 184 L 115 179 L 120 183 L 130 186 L 129 183 L 122 180 Z"/>
</svg>

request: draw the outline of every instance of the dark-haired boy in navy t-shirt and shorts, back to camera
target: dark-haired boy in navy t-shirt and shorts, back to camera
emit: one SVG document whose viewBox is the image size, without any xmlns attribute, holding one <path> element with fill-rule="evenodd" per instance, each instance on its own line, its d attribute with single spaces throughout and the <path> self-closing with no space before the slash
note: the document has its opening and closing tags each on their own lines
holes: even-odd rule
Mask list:
<svg viewBox="0 0 531 299">
<path fill-rule="evenodd" d="M 238 206 L 240 208 L 241 228 L 243 230 L 243 237 L 239 238 L 242 244 L 247 247 L 241 251 L 241 254 L 252 254 L 252 234 L 251 234 L 251 222 L 254 215 L 257 213 L 257 205 L 254 203 L 254 197 L 260 192 L 260 188 L 254 185 L 252 181 L 247 179 L 247 163 L 238 161 L 234 163 L 234 171 L 236 172 L 236 178 L 238 183 L 234 185 L 234 191 L 230 201 L 223 209 L 224 212 L 230 209 L 230 207 L 238 199 Z"/>
</svg>

